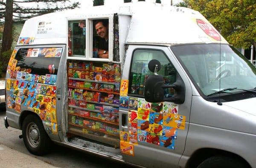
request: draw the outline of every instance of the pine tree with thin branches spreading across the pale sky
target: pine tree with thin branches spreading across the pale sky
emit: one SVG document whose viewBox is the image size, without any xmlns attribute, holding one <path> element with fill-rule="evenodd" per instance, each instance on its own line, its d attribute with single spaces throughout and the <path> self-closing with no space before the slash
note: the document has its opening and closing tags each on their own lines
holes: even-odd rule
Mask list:
<svg viewBox="0 0 256 168">
<path fill-rule="evenodd" d="M 1 52 L 11 49 L 13 17 L 25 19 L 54 11 L 74 9 L 80 5 L 79 2 L 75 2 L 71 5 L 64 5 L 64 3 L 67 2 L 69 2 L 69 0 L 6 0 L 6 2 L 0 0 L 0 19 L 4 19 L 5 22 Z M 38 3 L 38 5 L 35 7 L 23 7 L 22 4 L 24 3 Z M 61 5 L 58 3 L 61 3 Z"/>
</svg>

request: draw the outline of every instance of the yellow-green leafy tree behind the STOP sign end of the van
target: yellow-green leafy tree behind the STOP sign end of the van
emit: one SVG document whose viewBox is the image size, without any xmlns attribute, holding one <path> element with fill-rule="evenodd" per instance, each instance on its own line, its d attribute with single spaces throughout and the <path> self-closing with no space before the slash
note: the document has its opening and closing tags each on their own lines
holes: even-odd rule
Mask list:
<svg viewBox="0 0 256 168">
<path fill-rule="evenodd" d="M 256 46 L 255 0 L 185 0 L 236 47 Z"/>
</svg>

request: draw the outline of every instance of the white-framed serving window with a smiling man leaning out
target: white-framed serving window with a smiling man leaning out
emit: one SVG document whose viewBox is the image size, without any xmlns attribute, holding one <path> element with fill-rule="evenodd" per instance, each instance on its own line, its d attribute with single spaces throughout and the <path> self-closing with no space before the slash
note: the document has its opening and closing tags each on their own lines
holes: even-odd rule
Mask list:
<svg viewBox="0 0 256 168">
<path fill-rule="evenodd" d="M 68 20 L 68 59 L 119 62 L 117 14 Z"/>
</svg>

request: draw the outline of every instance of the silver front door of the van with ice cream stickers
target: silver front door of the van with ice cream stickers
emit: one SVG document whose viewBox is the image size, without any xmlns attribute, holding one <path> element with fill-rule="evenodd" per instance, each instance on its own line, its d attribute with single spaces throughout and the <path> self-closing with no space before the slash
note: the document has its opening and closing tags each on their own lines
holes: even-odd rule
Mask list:
<svg viewBox="0 0 256 168">
<path fill-rule="evenodd" d="M 148 62 L 161 63 L 158 74 L 166 84 L 179 74 L 186 87 L 185 102 L 149 103 L 144 99 L 146 78 L 153 74 Z M 166 89 L 171 97 L 173 89 Z M 120 148 L 123 158 L 145 167 L 177 167 L 189 125 L 192 90 L 188 78 L 166 46 L 130 45 L 126 53 L 120 87 Z"/>
</svg>

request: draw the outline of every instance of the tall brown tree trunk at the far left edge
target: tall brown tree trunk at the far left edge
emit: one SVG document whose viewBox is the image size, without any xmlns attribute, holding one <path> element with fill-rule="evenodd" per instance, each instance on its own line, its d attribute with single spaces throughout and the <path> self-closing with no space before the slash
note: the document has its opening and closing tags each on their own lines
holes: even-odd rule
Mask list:
<svg viewBox="0 0 256 168">
<path fill-rule="evenodd" d="M 6 13 L 3 28 L 3 42 L 1 52 L 11 49 L 12 46 L 12 14 L 13 14 L 13 0 L 6 0 Z"/>
</svg>

